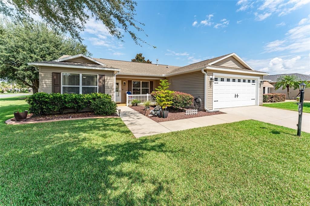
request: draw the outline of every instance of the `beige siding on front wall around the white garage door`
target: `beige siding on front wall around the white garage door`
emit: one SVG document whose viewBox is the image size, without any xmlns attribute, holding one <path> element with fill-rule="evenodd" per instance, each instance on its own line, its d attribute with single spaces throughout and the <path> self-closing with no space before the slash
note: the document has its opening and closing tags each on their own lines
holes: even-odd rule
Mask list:
<svg viewBox="0 0 310 206">
<path fill-rule="evenodd" d="M 210 81 L 210 77 L 213 77 L 213 73 L 232 74 L 232 75 L 244 75 L 244 76 L 259 76 L 259 80 L 263 79 L 262 75 L 244 74 L 237 72 L 223 72 L 215 70 L 207 70 L 207 108 L 213 109 L 213 83 Z M 259 82 L 258 82 L 259 84 Z M 263 87 L 259 84 L 259 105 L 263 104 Z"/>
</svg>

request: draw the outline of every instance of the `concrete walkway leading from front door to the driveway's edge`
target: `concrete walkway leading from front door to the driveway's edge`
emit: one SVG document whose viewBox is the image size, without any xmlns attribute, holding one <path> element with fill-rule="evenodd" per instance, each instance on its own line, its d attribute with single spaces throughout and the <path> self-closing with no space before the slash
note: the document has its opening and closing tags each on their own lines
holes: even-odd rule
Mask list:
<svg viewBox="0 0 310 206">
<path fill-rule="evenodd" d="M 146 135 L 155 135 L 171 131 L 186 130 L 195 127 L 205 127 L 215 124 L 237 122 L 249 118 L 232 114 L 218 114 L 205 117 L 195 117 L 167 122 L 155 122 L 139 112 L 126 106 L 119 106 L 121 118 L 136 138 Z"/>
</svg>

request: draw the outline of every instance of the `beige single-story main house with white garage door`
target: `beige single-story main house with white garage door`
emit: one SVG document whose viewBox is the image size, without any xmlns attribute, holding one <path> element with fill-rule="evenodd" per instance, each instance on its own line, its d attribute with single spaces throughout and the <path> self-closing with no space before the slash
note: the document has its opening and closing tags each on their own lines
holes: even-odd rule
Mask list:
<svg viewBox="0 0 310 206">
<path fill-rule="evenodd" d="M 255 71 L 235 53 L 185 67 L 90 58 L 83 54 L 28 64 L 39 72 L 40 92 L 102 92 L 123 103 L 127 91 L 149 94 L 155 91 L 160 79 L 167 79 L 170 90 L 200 97 L 206 111 L 261 105 L 263 76 L 268 75 Z"/>
</svg>

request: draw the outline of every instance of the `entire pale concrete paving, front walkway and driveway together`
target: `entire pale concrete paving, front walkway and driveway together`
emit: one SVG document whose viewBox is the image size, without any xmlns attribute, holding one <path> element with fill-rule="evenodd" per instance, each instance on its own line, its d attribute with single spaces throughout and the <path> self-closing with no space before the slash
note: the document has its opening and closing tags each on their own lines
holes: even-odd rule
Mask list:
<svg viewBox="0 0 310 206">
<path fill-rule="evenodd" d="M 220 111 L 227 114 L 217 114 L 167 122 L 155 122 L 130 107 L 119 106 L 118 109 L 121 109 L 122 120 L 136 138 L 248 119 L 268 122 L 296 130 L 296 124 L 298 122 L 298 112 L 296 111 L 262 106 L 225 108 Z M 310 113 L 303 113 L 302 131 L 310 133 Z"/>
</svg>

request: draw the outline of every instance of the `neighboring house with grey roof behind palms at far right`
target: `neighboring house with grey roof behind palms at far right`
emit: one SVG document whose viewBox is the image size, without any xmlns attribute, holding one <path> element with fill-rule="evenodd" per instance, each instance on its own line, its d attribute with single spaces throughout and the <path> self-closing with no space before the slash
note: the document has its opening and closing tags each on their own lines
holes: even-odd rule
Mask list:
<svg viewBox="0 0 310 206">
<path fill-rule="evenodd" d="M 274 86 L 277 83 L 277 79 L 281 76 L 284 76 L 284 75 L 295 75 L 298 79 L 306 80 L 306 81 L 310 82 L 310 75 L 303 75 L 303 74 L 299 74 L 299 73 L 281 74 L 281 75 L 268 75 L 268 76 L 264 76 L 263 79 L 264 79 L 264 81 L 268 81 L 268 83 L 270 83 L 272 86 Z M 291 99 L 295 99 L 297 94 L 299 93 L 299 89 L 294 90 L 294 88 L 290 88 L 289 92 L 290 92 Z M 277 90 L 275 90 L 274 88 L 269 88 L 268 93 L 286 94 L 286 99 L 289 99 L 289 97 L 287 96 L 287 89 L 286 88 L 285 89 L 279 88 Z M 304 100 L 310 100 L 310 87 L 306 87 L 306 89 L 305 89 Z"/>
</svg>

